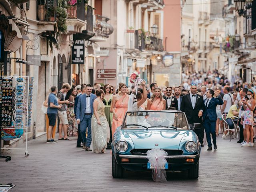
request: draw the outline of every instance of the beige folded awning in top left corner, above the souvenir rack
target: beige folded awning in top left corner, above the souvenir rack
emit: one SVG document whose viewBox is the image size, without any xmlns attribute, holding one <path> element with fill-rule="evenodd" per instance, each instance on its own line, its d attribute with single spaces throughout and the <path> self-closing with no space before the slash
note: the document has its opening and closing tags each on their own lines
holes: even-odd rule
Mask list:
<svg viewBox="0 0 256 192">
<path fill-rule="evenodd" d="M 19 28 L 8 16 L 14 16 L 10 4 L 6 0 L 0 0 L 0 30 L 4 34 L 4 48 L 16 52 L 21 47 L 22 35 Z"/>
</svg>

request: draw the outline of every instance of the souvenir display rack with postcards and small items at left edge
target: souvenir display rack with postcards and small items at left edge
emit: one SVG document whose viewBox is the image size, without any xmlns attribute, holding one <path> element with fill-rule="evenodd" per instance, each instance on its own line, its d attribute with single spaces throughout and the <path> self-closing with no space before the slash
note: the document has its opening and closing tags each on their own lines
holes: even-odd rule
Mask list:
<svg viewBox="0 0 256 192">
<path fill-rule="evenodd" d="M 32 80 L 33 81 L 33 80 Z M 28 157 L 28 120 L 29 102 L 32 107 L 32 89 L 29 76 L 2 76 L 0 92 L 1 99 L 1 137 L 4 140 L 20 138 L 26 131 L 26 148 L 8 148 L 8 150 L 25 150 Z M 33 85 L 32 85 L 33 86 Z M 11 94 L 11 95 L 10 95 Z M 29 98 L 31 100 L 29 101 Z M 11 113 L 10 113 L 11 112 Z M 2 115 L 3 114 L 3 115 Z M 11 115 L 11 117 L 10 117 Z M 31 111 L 30 111 L 31 119 Z M 30 120 L 31 121 L 31 120 Z M 6 161 L 10 158 L 6 159 Z"/>
</svg>

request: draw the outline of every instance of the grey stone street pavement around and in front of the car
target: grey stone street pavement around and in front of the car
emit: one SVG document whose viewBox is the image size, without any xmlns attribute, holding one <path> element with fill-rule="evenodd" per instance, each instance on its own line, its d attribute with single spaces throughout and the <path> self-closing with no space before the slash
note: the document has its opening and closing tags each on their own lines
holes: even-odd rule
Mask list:
<svg viewBox="0 0 256 192">
<path fill-rule="evenodd" d="M 58 136 L 56 136 L 58 138 Z M 168 182 L 153 182 L 150 172 L 126 172 L 123 179 L 112 178 L 110 150 L 94 154 L 76 148 L 76 140 L 46 144 L 45 138 L 28 144 L 29 157 L 20 150 L 0 159 L 0 183 L 15 184 L 10 192 L 253 192 L 256 191 L 256 146 L 242 148 L 236 140 L 218 136 L 218 150 L 202 147 L 198 180 L 188 180 L 186 172 L 167 174 Z"/>
</svg>

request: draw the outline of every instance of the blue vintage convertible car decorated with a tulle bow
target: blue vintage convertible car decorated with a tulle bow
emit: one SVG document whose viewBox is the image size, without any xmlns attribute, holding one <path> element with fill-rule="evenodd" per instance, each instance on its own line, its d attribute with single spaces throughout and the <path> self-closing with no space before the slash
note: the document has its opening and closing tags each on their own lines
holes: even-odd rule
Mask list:
<svg viewBox="0 0 256 192">
<path fill-rule="evenodd" d="M 198 178 L 201 145 L 194 129 L 180 111 L 126 112 L 114 133 L 112 176 L 122 178 L 125 170 L 150 170 L 146 152 L 153 148 L 168 153 L 166 171 L 188 170 L 188 178 Z"/>
</svg>

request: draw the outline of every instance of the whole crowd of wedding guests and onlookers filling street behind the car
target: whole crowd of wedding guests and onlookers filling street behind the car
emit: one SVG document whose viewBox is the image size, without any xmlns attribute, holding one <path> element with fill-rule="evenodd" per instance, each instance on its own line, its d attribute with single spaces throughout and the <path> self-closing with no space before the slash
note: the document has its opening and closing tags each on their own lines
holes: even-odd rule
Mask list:
<svg viewBox="0 0 256 192">
<path fill-rule="evenodd" d="M 255 88 L 253 84 L 241 82 L 239 78 L 229 81 L 218 71 L 182 74 L 181 86 L 158 87 L 146 85 L 143 80 L 128 88 L 120 83 L 116 89 L 110 84 L 95 83 L 70 87 L 63 84 L 60 91 L 52 86 L 44 102 L 47 106 L 47 143 L 56 143 L 56 119 L 58 116 L 59 140 L 72 140 L 77 136 L 76 147 L 95 153 L 105 153 L 111 148 L 113 134 L 126 111 L 180 110 L 185 112 L 188 123 L 201 126 L 194 131 L 201 146 L 204 136 L 208 149 L 217 149 L 216 137 L 226 130 L 234 130 L 239 118 L 242 147 L 254 145 Z M 237 118 L 234 118 L 237 117 Z M 228 129 L 227 129 L 228 128 Z M 64 135 L 62 135 L 62 132 Z M 211 141 L 212 138 L 212 141 Z M 92 144 L 92 149 L 90 148 Z"/>
</svg>

